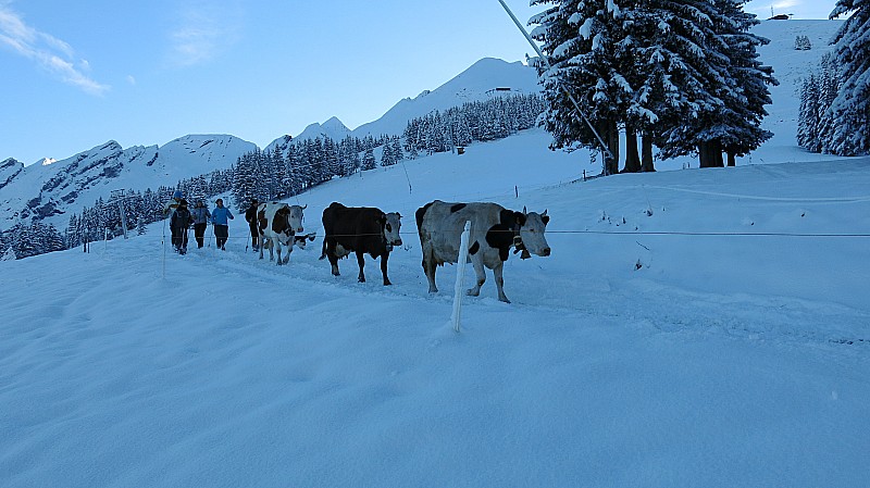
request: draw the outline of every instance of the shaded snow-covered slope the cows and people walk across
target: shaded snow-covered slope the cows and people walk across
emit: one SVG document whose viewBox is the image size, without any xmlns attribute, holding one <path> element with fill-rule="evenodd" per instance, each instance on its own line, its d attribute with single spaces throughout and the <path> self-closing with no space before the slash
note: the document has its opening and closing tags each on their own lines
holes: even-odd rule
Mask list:
<svg viewBox="0 0 870 488">
<path fill-rule="evenodd" d="M 0 486 L 866 485 L 870 158 L 795 148 L 796 103 L 738 167 L 584 182 L 533 129 L 334 179 L 291 200 L 319 238 L 286 266 L 238 216 L 226 251 L 156 223 L 2 261 Z M 436 198 L 551 216 L 459 334 L 458 266 L 431 296 L 420 265 Z M 393 286 L 318 260 L 335 200 L 405 216 Z"/>
</svg>

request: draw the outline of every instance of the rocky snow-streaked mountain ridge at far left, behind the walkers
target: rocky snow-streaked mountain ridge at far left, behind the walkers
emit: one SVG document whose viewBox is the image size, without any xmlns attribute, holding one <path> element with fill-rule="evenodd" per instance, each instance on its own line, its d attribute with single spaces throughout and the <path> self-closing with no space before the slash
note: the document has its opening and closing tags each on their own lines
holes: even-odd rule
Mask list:
<svg viewBox="0 0 870 488">
<path fill-rule="evenodd" d="M 227 135 L 189 135 L 161 147 L 110 140 L 51 164 L 0 163 L 0 229 L 39 217 L 63 228 L 71 213 L 115 189 L 157 189 L 227 168 L 256 145 Z"/>
</svg>

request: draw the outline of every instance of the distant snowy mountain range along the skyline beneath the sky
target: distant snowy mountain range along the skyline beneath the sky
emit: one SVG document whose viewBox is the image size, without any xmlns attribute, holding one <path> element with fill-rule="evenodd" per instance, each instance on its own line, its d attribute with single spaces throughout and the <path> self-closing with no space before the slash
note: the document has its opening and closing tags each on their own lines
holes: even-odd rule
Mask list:
<svg viewBox="0 0 870 488">
<path fill-rule="evenodd" d="M 409 120 L 434 110 L 505 92 L 538 90 L 533 68 L 519 62 L 483 59 L 435 90 L 400 100 L 381 118 L 356 130 L 332 117 L 323 124 L 309 125 L 295 138 L 279 137 L 264 149 L 324 136 L 340 140 L 369 134 L 401 135 Z M 8 159 L 0 162 L 0 230 L 20 222 L 29 223 L 34 217 L 63 229 L 70 214 L 94 205 L 99 198 L 108 200 L 112 190 L 174 186 L 181 179 L 228 168 L 240 155 L 256 149 L 254 143 L 231 135 L 188 135 L 160 147 L 124 149 L 110 140 L 63 160 L 45 160 L 29 166 Z"/>
</svg>

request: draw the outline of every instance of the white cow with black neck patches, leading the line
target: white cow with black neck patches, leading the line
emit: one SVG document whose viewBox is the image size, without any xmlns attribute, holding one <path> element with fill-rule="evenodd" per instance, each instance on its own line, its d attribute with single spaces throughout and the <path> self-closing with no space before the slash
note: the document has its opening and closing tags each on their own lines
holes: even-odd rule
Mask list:
<svg viewBox="0 0 870 488">
<path fill-rule="evenodd" d="M 501 275 L 510 248 L 522 251 L 522 259 L 531 254 L 550 255 L 550 247 L 544 237 L 550 217 L 544 213 L 507 210 L 496 203 L 448 203 L 435 200 L 418 209 L 415 213 L 420 245 L 423 250 L 423 272 L 428 278 L 428 291 L 435 293 L 436 266 L 459 261 L 459 247 L 465 222 L 471 221 L 469 236 L 469 261 L 474 265 L 477 283 L 468 290 L 476 297 L 486 281 L 484 266 L 493 270 L 498 288 L 498 299 L 510 303 L 505 296 L 505 279 Z M 530 254 L 531 252 L 531 254 Z"/>
</svg>

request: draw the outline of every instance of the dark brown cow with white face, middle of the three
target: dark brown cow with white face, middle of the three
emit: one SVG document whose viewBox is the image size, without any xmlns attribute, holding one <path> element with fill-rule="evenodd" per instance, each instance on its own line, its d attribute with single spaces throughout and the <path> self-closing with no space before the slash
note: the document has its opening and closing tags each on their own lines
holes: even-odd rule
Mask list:
<svg viewBox="0 0 870 488">
<path fill-rule="evenodd" d="M 399 229 L 401 215 L 397 212 L 384 213 L 371 207 L 345 207 L 332 202 L 323 211 L 323 253 L 328 258 L 334 276 L 338 276 L 338 260 L 351 252 L 357 253 L 360 266 L 359 281 L 365 283 L 363 266 L 365 254 L 381 258 L 381 274 L 384 286 L 391 285 L 387 277 L 387 261 L 394 246 L 401 246 Z"/>
</svg>

